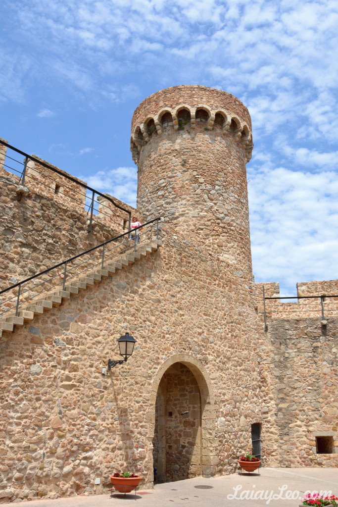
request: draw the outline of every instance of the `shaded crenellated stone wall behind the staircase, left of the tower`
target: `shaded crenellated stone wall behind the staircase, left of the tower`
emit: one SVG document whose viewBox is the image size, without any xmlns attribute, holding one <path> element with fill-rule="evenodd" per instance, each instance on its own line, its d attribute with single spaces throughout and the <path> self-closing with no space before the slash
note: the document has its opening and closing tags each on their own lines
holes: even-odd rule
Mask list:
<svg viewBox="0 0 338 507">
<path fill-rule="evenodd" d="M 3 153 L 4 149 L 2 146 Z M 56 185 L 59 193 L 55 193 Z M 117 212 L 114 205 L 101 197 L 99 205 L 95 204 L 99 206 L 98 213 L 93 216 L 89 232 L 86 189 L 43 165 L 28 163 L 25 186 L 29 192 L 19 196 L 20 200 L 16 193 L 18 186 L 19 176 L 0 167 L 3 207 L 0 216 L 0 289 L 128 230 L 128 214 L 121 210 Z M 128 205 L 124 207 L 135 212 Z"/>
</svg>

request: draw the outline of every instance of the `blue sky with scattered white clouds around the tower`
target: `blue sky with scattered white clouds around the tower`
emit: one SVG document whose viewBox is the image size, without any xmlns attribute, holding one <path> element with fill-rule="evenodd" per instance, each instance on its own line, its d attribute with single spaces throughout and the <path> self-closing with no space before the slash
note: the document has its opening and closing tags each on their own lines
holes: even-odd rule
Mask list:
<svg viewBox="0 0 338 507">
<path fill-rule="evenodd" d="M 3 0 L 0 136 L 135 204 L 130 121 L 180 84 L 249 108 L 256 281 L 338 277 L 336 0 Z"/>
</svg>

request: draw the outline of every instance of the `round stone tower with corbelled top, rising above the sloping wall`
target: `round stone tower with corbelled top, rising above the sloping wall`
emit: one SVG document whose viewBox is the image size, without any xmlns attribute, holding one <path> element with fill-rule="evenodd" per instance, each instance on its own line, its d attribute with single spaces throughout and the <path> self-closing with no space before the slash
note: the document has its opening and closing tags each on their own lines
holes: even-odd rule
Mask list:
<svg viewBox="0 0 338 507">
<path fill-rule="evenodd" d="M 252 146 L 248 110 L 230 93 L 192 85 L 150 95 L 132 119 L 137 207 L 250 274 L 245 165 Z"/>
</svg>

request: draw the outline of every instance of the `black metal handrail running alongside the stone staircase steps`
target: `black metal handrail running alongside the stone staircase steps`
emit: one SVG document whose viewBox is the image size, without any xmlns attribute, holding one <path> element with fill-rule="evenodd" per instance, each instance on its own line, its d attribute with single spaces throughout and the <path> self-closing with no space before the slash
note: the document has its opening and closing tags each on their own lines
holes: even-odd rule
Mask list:
<svg viewBox="0 0 338 507">
<path fill-rule="evenodd" d="M 126 237 L 126 236 L 127 236 L 127 237 L 129 236 L 129 238 L 131 239 L 131 233 L 134 233 L 134 231 L 141 230 L 142 228 L 144 228 L 144 227 L 146 227 L 146 226 L 148 226 L 148 225 L 150 225 L 150 224 L 154 224 L 155 222 L 156 222 L 156 238 L 158 239 L 158 238 L 159 238 L 159 224 L 160 224 L 160 220 L 161 220 L 161 219 L 157 218 L 157 219 L 151 220 L 151 221 L 147 222 L 146 224 L 143 224 L 143 225 L 141 225 L 141 226 L 139 226 L 139 227 L 136 227 L 136 228 L 134 228 L 134 229 L 130 229 L 129 231 L 127 231 L 127 232 L 125 232 L 125 233 L 123 233 L 123 234 L 120 234 L 119 236 L 116 236 L 116 237 L 114 237 L 114 238 L 108 239 L 107 241 L 104 241 L 103 243 L 100 243 L 100 244 L 98 244 L 98 245 L 96 245 L 96 246 L 93 246 L 92 248 L 89 248 L 88 250 L 85 250 L 84 252 L 78 253 L 78 255 L 76 255 L 76 256 L 70 257 L 69 259 L 66 259 L 65 261 L 62 261 L 62 262 L 60 262 L 60 263 L 58 263 L 58 264 L 55 264 L 54 266 L 52 266 L 52 267 L 50 267 L 50 268 L 47 268 L 47 269 L 45 269 L 44 271 L 41 271 L 41 272 L 36 273 L 36 274 L 34 274 L 34 275 L 32 275 L 32 276 L 29 276 L 28 278 L 25 278 L 24 280 L 21 280 L 20 282 L 17 282 L 17 283 L 15 283 L 15 284 L 13 284 L 13 285 L 11 285 L 11 286 L 9 286 L 9 287 L 7 287 L 7 288 L 3 289 L 2 291 L 0 291 L 0 295 L 5 294 L 5 293 L 7 293 L 7 292 L 9 292 L 9 291 L 12 291 L 12 289 L 15 289 L 15 288 L 17 288 L 17 287 L 18 287 L 18 294 L 17 294 L 16 296 L 13 296 L 12 298 L 7 299 L 6 301 L 2 301 L 2 302 L 0 302 L 0 305 L 4 305 L 5 303 L 7 303 L 7 302 L 9 302 L 9 301 L 12 301 L 13 299 L 16 299 L 16 300 L 17 300 L 17 301 L 16 301 L 16 305 L 15 305 L 15 306 L 13 306 L 13 307 L 11 307 L 11 308 L 8 308 L 8 309 L 4 310 L 3 312 L 1 312 L 1 313 L 0 313 L 0 315 L 3 315 L 4 313 L 7 313 L 8 311 L 13 310 L 13 309 L 15 308 L 15 315 L 17 316 L 17 315 L 18 315 L 18 312 L 19 312 L 20 295 L 22 295 L 22 294 L 24 294 L 25 292 L 28 292 L 28 291 L 30 291 L 30 290 L 31 290 L 31 288 L 28 288 L 28 289 L 26 289 L 26 291 L 22 292 L 22 291 L 21 291 L 21 286 L 22 286 L 24 283 L 27 283 L 27 282 L 29 282 L 29 281 L 31 281 L 31 280 L 33 280 L 33 279 L 35 279 L 35 278 L 39 278 L 39 277 L 43 276 L 44 274 L 49 273 L 49 272 L 50 272 L 50 271 L 52 271 L 53 269 L 60 268 L 61 266 L 63 266 L 63 267 L 64 267 L 64 270 L 63 270 L 63 280 L 62 280 L 61 282 L 59 282 L 59 283 L 57 283 L 57 284 L 53 285 L 53 286 L 48 287 L 48 289 L 46 289 L 45 291 L 42 291 L 42 292 L 40 292 L 40 293 L 38 293 L 38 294 L 33 295 L 31 298 L 29 298 L 29 299 L 28 299 L 28 300 L 26 300 L 26 301 L 29 301 L 29 300 L 31 300 L 31 299 L 33 299 L 33 298 L 35 298 L 36 296 L 39 296 L 40 294 L 43 294 L 44 292 L 50 291 L 52 288 L 54 288 L 54 287 L 56 287 L 57 285 L 60 285 L 60 284 L 62 284 L 62 290 L 64 290 L 64 289 L 65 289 L 65 283 L 66 283 L 66 281 L 67 281 L 67 280 L 70 280 L 71 278 L 74 278 L 74 277 L 76 277 L 76 276 L 79 276 L 81 273 L 83 273 L 83 272 L 85 272 L 85 271 L 88 271 L 89 269 L 92 269 L 92 268 L 94 268 L 95 266 L 101 265 L 101 268 L 102 268 L 102 269 L 104 269 L 104 261 L 107 261 L 107 260 L 111 259 L 112 257 L 114 257 L 114 256 L 111 256 L 111 257 L 108 257 L 108 258 L 107 258 L 107 257 L 105 257 L 105 254 L 106 254 L 108 251 L 111 251 L 112 249 L 114 249 L 114 248 L 111 248 L 110 250 L 109 250 L 109 249 L 108 249 L 108 250 L 106 250 L 106 249 L 105 249 L 106 245 L 108 245 L 108 244 L 109 244 L 109 243 L 111 243 L 112 241 L 117 241 L 117 240 L 119 240 L 119 239 L 121 239 L 121 238 L 124 238 L 124 237 Z M 137 242 L 136 242 L 136 240 L 137 240 L 137 234 L 134 234 L 134 235 L 133 235 L 133 238 L 134 238 L 134 244 L 133 244 L 132 246 L 128 246 L 128 247 L 127 247 L 127 248 L 125 248 L 124 250 L 118 251 L 118 252 L 116 253 L 116 255 L 122 255 L 124 252 L 126 252 L 126 251 L 130 250 L 131 248 L 133 248 L 133 249 L 134 249 L 134 251 L 136 251 L 136 245 L 137 245 Z M 123 244 L 123 243 L 122 243 L 122 244 Z M 119 245 L 117 245 L 117 246 L 120 246 L 120 245 L 121 245 L 121 243 L 119 243 Z M 92 257 L 92 258 L 88 259 L 87 261 L 85 261 L 85 262 L 89 262 L 89 261 L 91 261 L 92 259 L 96 259 L 97 257 L 101 257 L 100 261 L 99 261 L 97 264 L 91 265 L 91 266 L 89 266 L 88 268 L 86 268 L 86 269 L 82 270 L 80 273 L 76 273 L 76 274 L 74 274 L 74 275 L 72 275 L 72 276 L 70 276 L 70 277 L 68 276 L 68 278 L 67 278 L 67 265 L 68 265 L 68 263 L 71 263 L 72 261 L 74 261 L 74 260 L 76 260 L 76 259 L 79 259 L 79 258 L 81 258 L 81 257 L 83 257 L 83 256 L 85 256 L 85 255 L 87 255 L 88 253 L 90 253 L 90 252 L 92 252 L 92 251 L 94 251 L 94 250 L 97 250 L 98 248 L 102 248 L 102 254 L 101 254 L 101 253 L 99 253 L 98 255 L 95 255 L 94 257 Z M 78 267 L 78 266 L 81 266 L 82 264 L 84 264 L 84 263 L 80 263 L 80 264 L 77 264 L 76 266 L 72 266 L 71 268 L 68 268 L 68 273 L 69 273 L 69 271 L 71 271 L 72 269 L 74 269 L 74 268 L 76 268 L 76 267 Z M 57 275 L 52 276 L 49 280 L 44 280 L 44 281 L 42 281 L 41 283 L 39 283 L 39 284 L 35 285 L 35 287 L 36 287 L 36 286 L 39 286 L 39 285 L 42 285 L 42 284 L 46 283 L 47 281 L 50 281 L 50 280 L 52 280 L 53 278 L 56 278 L 56 277 L 58 277 L 58 276 L 62 276 L 62 275 L 60 275 L 60 274 L 58 273 Z"/>
</svg>

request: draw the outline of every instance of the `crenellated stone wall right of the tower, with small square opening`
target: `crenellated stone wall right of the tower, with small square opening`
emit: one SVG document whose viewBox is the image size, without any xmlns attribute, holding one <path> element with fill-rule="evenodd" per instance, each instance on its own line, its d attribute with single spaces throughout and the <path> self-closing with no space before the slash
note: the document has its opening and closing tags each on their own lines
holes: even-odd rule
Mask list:
<svg viewBox="0 0 338 507">
<path fill-rule="evenodd" d="M 278 283 L 257 283 L 255 291 L 264 328 L 262 286 L 266 297 L 279 297 Z M 337 280 L 298 282 L 297 302 L 266 302 L 268 330 L 262 346 L 276 424 L 268 462 L 282 466 L 338 466 L 338 294 Z M 324 320 L 320 297 L 323 301 Z M 316 437 L 331 441 L 320 452 Z"/>
</svg>

